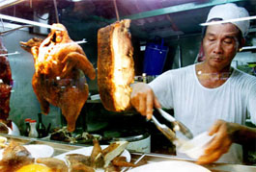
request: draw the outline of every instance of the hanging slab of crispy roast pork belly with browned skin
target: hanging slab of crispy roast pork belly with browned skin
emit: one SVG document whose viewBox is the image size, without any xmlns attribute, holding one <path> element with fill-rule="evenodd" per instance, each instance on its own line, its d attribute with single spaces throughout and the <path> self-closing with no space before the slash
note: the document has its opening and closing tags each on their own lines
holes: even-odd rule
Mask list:
<svg viewBox="0 0 256 172">
<path fill-rule="evenodd" d="M 98 86 L 108 111 L 126 111 L 134 78 L 133 47 L 129 19 L 117 21 L 98 32 Z"/>
</svg>

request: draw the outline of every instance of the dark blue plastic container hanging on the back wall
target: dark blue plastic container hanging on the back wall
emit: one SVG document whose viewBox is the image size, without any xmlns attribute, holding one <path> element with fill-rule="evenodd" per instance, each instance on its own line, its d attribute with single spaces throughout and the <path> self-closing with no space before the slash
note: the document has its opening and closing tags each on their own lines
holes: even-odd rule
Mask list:
<svg viewBox="0 0 256 172">
<path fill-rule="evenodd" d="M 161 43 L 147 43 L 144 54 L 143 73 L 147 75 L 160 75 L 166 60 L 169 48 Z"/>
</svg>

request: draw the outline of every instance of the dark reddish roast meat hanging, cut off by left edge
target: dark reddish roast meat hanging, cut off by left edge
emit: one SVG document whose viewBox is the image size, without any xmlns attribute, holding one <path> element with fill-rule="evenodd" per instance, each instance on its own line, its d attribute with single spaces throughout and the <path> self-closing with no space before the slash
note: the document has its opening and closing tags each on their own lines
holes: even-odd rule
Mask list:
<svg viewBox="0 0 256 172">
<path fill-rule="evenodd" d="M 8 120 L 10 111 L 10 97 L 12 90 L 12 71 L 7 56 L 7 49 L 4 47 L 2 39 L 0 39 L 0 122 L 12 127 L 12 123 Z"/>
</svg>

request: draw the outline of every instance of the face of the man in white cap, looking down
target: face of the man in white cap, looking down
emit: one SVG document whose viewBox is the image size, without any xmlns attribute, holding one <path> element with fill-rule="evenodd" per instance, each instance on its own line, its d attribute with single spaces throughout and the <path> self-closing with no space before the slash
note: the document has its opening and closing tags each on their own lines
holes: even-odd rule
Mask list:
<svg viewBox="0 0 256 172">
<path fill-rule="evenodd" d="M 216 69 L 230 65 L 239 50 L 239 29 L 231 24 L 215 24 L 207 28 L 203 39 L 206 62 Z"/>
</svg>

